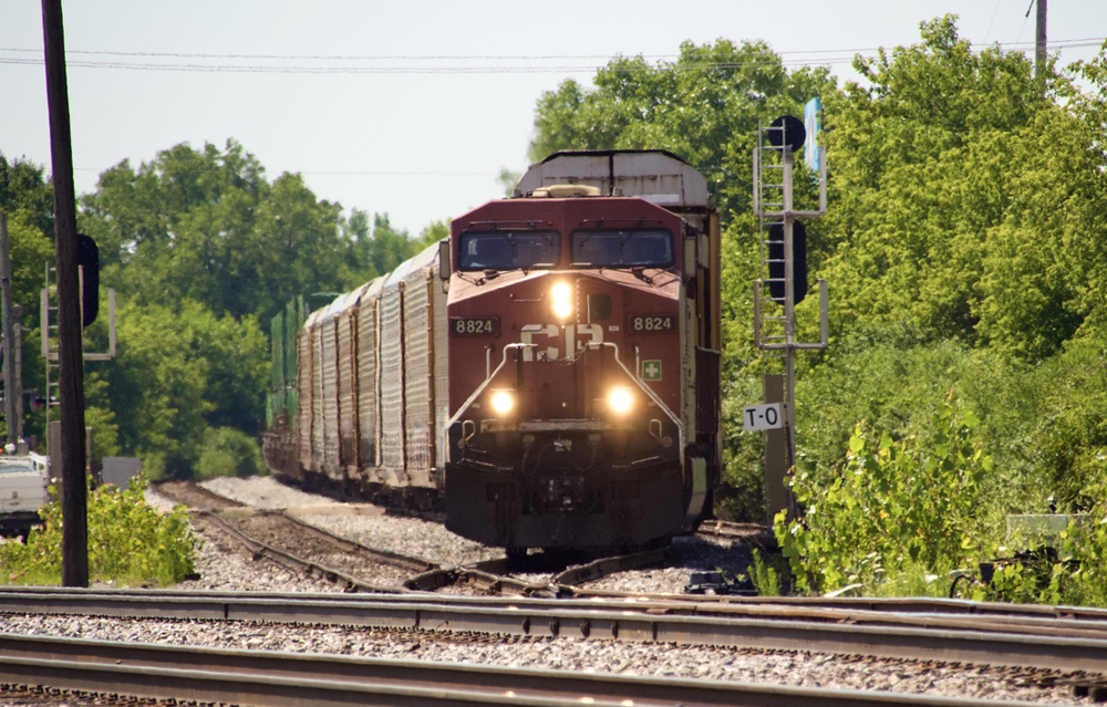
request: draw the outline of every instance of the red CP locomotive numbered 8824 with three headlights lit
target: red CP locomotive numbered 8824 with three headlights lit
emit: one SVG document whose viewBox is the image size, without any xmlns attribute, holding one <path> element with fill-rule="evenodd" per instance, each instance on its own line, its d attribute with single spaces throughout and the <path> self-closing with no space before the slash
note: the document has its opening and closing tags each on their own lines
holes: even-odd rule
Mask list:
<svg viewBox="0 0 1107 707">
<path fill-rule="evenodd" d="M 455 219 L 448 249 L 447 528 L 637 547 L 710 512 L 718 228 L 703 177 L 662 152 L 558 153 Z"/>
</svg>

